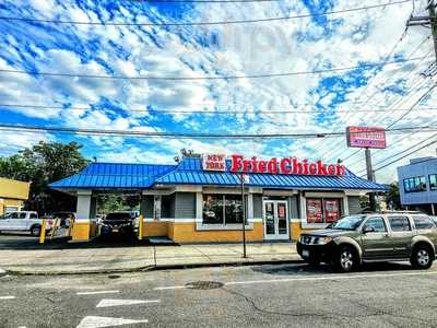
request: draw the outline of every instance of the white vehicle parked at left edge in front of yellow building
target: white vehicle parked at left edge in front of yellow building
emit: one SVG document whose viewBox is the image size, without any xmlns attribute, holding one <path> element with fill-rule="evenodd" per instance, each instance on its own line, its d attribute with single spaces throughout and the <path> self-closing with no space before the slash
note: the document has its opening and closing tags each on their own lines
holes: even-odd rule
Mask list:
<svg viewBox="0 0 437 328">
<path fill-rule="evenodd" d="M 8 212 L 0 216 L 0 232 L 2 231 L 28 231 L 33 236 L 39 236 L 43 220 L 37 212 L 16 211 Z M 51 222 L 47 221 L 46 231 L 50 231 Z"/>
</svg>

